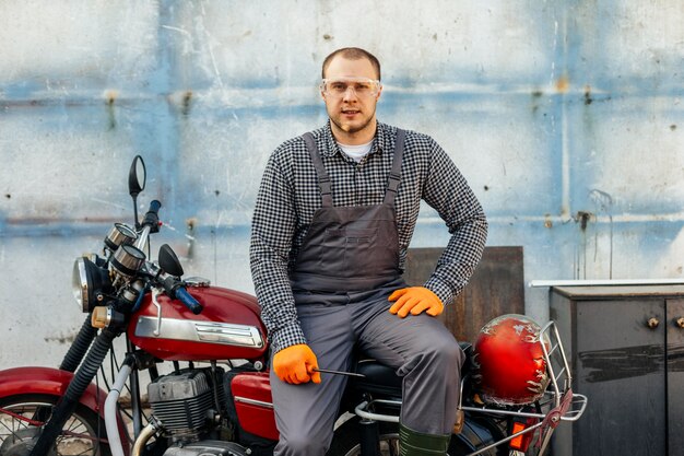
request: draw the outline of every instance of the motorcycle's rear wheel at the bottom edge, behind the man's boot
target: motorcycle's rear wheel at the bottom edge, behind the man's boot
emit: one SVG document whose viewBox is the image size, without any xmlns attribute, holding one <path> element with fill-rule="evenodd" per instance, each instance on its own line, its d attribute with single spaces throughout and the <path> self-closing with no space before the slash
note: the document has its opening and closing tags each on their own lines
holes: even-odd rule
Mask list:
<svg viewBox="0 0 684 456">
<path fill-rule="evenodd" d="M 340 425 L 332 437 L 330 449 L 326 456 L 359 456 L 361 445 L 359 436 L 359 418 L 353 417 Z M 399 456 L 399 424 L 379 422 L 380 434 L 380 455 L 381 456 Z M 467 422 L 463 432 L 459 435 L 451 435 L 449 443 L 449 456 L 469 455 L 477 448 L 483 448 L 494 442 L 492 434 L 483 426 L 472 422 Z M 481 453 L 484 456 L 500 456 L 496 448 Z"/>
</svg>

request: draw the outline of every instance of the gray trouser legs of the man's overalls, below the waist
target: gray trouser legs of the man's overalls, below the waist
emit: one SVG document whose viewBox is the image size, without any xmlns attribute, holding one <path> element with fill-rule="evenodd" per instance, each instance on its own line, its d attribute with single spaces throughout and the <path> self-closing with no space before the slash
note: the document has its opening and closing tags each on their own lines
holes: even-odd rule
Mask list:
<svg viewBox="0 0 684 456">
<path fill-rule="evenodd" d="M 345 371 L 359 347 L 403 376 L 401 422 L 418 432 L 450 434 L 456 421 L 463 352 L 428 315 L 399 318 L 388 312 L 393 290 L 297 299 L 297 314 L 321 369 Z M 271 372 L 274 456 L 323 456 L 330 446 L 346 377 L 321 374 L 320 384 L 290 385 Z"/>
</svg>

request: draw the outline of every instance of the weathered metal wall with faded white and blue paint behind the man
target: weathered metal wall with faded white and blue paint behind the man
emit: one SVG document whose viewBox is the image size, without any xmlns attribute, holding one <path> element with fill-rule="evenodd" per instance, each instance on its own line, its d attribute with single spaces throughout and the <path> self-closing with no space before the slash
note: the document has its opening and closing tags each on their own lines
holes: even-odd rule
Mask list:
<svg viewBox="0 0 684 456">
<path fill-rule="evenodd" d="M 74 257 L 132 220 L 126 175 L 189 274 L 251 292 L 269 153 L 322 125 L 320 63 L 381 60 L 379 119 L 432 135 L 532 279 L 680 278 L 679 0 L 0 1 L 0 369 L 55 365 Z M 445 245 L 426 208 L 413 246 Z M 545 289 L 527 312 L 547 318 Z"/>
</svg>

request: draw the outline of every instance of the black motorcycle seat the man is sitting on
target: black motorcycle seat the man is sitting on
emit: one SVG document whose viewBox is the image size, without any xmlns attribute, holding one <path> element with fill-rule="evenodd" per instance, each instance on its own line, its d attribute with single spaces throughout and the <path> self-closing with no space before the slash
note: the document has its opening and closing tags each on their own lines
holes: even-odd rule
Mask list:
<svg viewBox="0 0 684 456">
<path fill-rule="evenodd" d="M 459 342 L 459 346 L 465 353 L 465 362 L 461 367 L 461 377 L 464 377 L 470 371 L 473 348 L 470 342 Z M 364 356 L 362 353 L 356 363 L 356 373 L 365 375 L 365 377 L 355 377 L 353 379 L 355 387 L 372 394 L 401 397 L 403 377 L 397 375 L 392 367 L 381 364 L 373 358 Z"/>
</svg>

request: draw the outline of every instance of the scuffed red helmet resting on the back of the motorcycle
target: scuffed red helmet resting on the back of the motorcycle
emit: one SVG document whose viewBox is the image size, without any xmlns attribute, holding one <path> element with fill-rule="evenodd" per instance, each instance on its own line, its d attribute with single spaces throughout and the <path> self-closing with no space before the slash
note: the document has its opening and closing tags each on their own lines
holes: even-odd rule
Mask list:
<svg viewBox="0 0 684 456">
<path fill-rule="evenodd" d="M 480 330 L 473 350 L 473 379 L 485 402 L 531 404 L 549 385 L 541 328 L 524 315 L 502 315 Z"/>
</svg>

